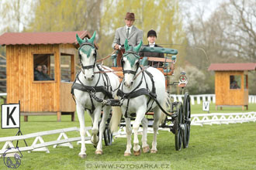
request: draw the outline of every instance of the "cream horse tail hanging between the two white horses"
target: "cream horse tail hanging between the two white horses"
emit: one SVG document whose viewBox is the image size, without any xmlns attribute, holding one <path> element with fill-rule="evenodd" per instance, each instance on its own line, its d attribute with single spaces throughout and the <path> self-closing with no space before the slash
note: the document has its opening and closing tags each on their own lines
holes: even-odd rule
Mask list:
<svg viewBox="0 0 256 170">
<path fill-rule="evenodd" d="M 115 99 L 118 99 L 116 96 Z M 110 131 L 117 131 L 122 117 L 121 107 L 112 107 L 112 117 L 109 123 Z"/>
</svg>

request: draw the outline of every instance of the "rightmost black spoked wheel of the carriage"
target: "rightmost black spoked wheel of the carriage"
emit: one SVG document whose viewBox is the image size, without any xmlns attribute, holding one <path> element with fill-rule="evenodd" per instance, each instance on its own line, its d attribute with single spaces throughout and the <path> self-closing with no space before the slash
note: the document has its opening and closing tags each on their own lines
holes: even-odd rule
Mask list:
<svg viewBox="0 0 256 170">
<path fill-rule="evenodd" d="M 189 147 L 189 137 L 190 137 L 190 98 L 189 93 L 186 92 L 183 100 L 183 111 L 185 116 L 185 122 L 184 122 L 184 133 L 183 133 L 183 148 Z"/>
</svg>

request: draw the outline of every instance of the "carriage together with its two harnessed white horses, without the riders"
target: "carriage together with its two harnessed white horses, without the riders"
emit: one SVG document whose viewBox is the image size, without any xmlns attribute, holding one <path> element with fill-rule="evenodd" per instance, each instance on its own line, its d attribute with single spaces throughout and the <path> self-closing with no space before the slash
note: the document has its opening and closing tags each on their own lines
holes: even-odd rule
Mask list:
<svg viewBox="0 0 256 170">
<path fill-rule="evenodd" d="M 131 125 L 133 121 L 134 139 L 133 152 L 134 155 L 140 155 L 140 145 L 137 138 L 138 128 L 142 124 L 143 148 L 144 152 L 149 151 L 147 145 L 147 123 L 149 127 L 154 128 L 154 140 L 152 143 L 151 153 L 156 153 L 156 136 L 159 126 L 161 128 L 169 128 L 175 134 L 175 148 L 177 151 L 188 148 L 190 137 L 190 100 L 189 93 L 185 93 L 183 103 L 171 100 L 171 96 L 166 92 L 166 87 L 170 85 L 178 85 L 183 88 L 187 83 L 185 73 L 181 73 L 178 82 L 170 83 L 169 77 L 173 75 L 175 70 L 176 55 L 178 50 L 160 47 L 142 47 L 142 41 L 138 46 L 129 46 L 128 41 L 124 44 L 124 49 L 119 50 L 116 55 L 112 55 L 112 69 L 102 66 L 96 62 L 96 49 L 94 46 L 95 33 L 91 39 L 77 40 L 80 44 L 78 54 L 81 63 L 81 71 L 76 76 L 72 86 L 72 93 L 76 100 L 78 118 L 80 121 L 81 133 L 81 158 L 86 156 L 85 143 L 85 123 L 84 111 L 92 117 L 92 143 L 96 151 L 95 154 L 102 154 L 102 139 L 106 145 L 112 144 L 112 131 L 121 120 L 126 121 L 127 145 L 125 156 L 130 155 L 131 148 Z M 139 52 L 157 52 L 165 53 L 164 58 L 150 58 L 144 56 L 140 59 Z M 148 61 L 157 62 L 157 68 L 145 66 Z M 162 63 L 162 64 L 160 64 Z M 160 66 L 161 65 L 161 66 Z M 121 83 L 117 83 L 119 75 Z M 133 84 L 134 82 L 134 84 Z M 119 85 L 117 85 L 119 84 Z M 135 86 L 135 87 L 133 87 Z M 118 96 L 119 99 L 114 99 Z M 141 103 L 142 102 L 142 103 Z M 137 104 L 142 104 L 136 106 Z M 123 113 L 120 119 L 116 111 L 112 107 L 119 106 Z M 110 110 L 112 108 L 112 111 Z M 150 111 L 154 110 L 154 113 Z M 103 113 L 101 113 L 103 112 Z M 111 112 L 111 114 L 110 114 Z M 121 111 L 119 111 L 121 112 Z M 165 114 L 161 121 L 161 112 Z M 125 114 L 124 114 L 125 113 Z M 109 116 L 110 114 L 110 116 Z M 153 116 L 153 118 L 151 117 Z M 100 118 L 101 117 L 101 118 Z M 135 118 L 134 118 L 135 117 Z M 148 119 L 147 119 L 147 118 Z M 112 121 L 113 120 L 113 121 Z M 109 124 L 110 122 L 110 124 Z M 113 123 L 114 122 L 114 123 Z M 114 124 L 114 125 L 113 125 Z M 121 123 L 122 124 L 122 123 Z M 128 127 L 128 128 L 127 128 Z M 130 139 L 128 139 L 128 136 Z M 129 142 L 129 144 L 128 144 Z"/>
</svg>

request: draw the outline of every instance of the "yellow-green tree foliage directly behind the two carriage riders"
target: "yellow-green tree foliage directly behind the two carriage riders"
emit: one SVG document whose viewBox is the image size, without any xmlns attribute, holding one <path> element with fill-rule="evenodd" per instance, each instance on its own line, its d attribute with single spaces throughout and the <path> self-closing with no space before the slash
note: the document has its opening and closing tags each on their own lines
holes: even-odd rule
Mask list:
<svg viewBox="0 0 256 170">
<path fill-rule="evenodd" d="M 126 12 L 134 12 L 134 26 L 144 32 L 144 44 L 147 44 L 147 32 L 154 29 L 157 32 L 158 44 L 185 44 L 185 32 L 179 12 L 178 1 L 168 0 L 130 0 L 104 1 L 101 18 L 101 35 L 99 41 L 101 50 L 111 53 L 111 44 L 117 28 L 125 26 Z M 179 60 L 182 60 L 184 48 L 181 46 L 166 46 L 179 51 Z"/>
</svg>

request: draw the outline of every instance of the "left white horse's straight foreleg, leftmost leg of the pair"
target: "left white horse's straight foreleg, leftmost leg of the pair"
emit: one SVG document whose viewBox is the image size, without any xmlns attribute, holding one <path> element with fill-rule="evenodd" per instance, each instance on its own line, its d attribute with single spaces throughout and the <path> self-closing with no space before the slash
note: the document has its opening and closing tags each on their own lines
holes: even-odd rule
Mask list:
<svg viewBox="0 0 256 170">
<path fill-rule="evenodd" d="M 80 124 L 80 135 L 81 135 L 81 151 L 79 156 L 81 158 L 86 157 L 86 148 L 85 148 L 85 108 L 81 106 L 81 104 L 77 103 L 77 113 L 78 113 L 78 120 Z"/>
</svg>

